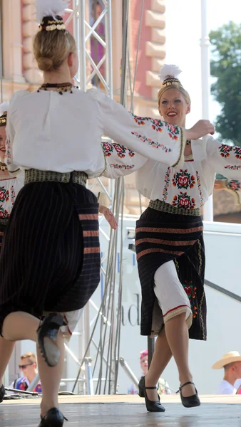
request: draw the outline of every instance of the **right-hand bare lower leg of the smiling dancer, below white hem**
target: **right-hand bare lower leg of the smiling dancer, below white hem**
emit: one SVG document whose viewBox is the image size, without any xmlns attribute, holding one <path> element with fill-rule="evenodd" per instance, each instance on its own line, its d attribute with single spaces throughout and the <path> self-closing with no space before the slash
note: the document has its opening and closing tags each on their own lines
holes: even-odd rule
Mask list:
<svg viewBox="0 0 241 427">
<path fill-rule="evenodd" d="M 189 335 L 185 316 L 185 313 L 182 313 L 165 322 L 165 334 L 178 367 L 180 384 L 193 381 L 188 364 Z M 195 394 L 195 387 L 185 386 L 182 394 L 183 396 Z"/>
</svg>

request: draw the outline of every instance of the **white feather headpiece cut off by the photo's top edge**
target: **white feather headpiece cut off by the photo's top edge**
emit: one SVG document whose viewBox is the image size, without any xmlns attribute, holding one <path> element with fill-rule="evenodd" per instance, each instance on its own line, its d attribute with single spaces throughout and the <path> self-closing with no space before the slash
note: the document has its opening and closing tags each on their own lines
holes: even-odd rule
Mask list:
<svg viewBox="0 0 241 427">
<path fill-rule="evenodd" d="M 68 8 L 69 0 L 35 0 L 36 19 L 41 22 L 43 16 L 53 16 L 63 14 Z"/>
</svg>

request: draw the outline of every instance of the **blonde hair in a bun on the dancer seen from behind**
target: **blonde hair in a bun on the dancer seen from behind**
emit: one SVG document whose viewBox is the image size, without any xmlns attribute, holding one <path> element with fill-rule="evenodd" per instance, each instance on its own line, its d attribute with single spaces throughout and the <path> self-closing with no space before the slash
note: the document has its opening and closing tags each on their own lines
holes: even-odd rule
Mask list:
<svg viewBox="0 0 241 427">
<path fill-rule="evenodd" d="M 75 51 L 76 41 L 68 31 L 39 31 L 34 37 L 34 57 L 42 71 L 58 70 Z"/>
</svg>

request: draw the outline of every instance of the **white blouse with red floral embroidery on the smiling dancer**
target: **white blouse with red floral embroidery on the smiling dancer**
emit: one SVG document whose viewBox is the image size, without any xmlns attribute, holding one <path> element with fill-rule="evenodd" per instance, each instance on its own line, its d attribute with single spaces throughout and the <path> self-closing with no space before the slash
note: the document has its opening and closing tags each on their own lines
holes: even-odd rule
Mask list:
<svg viewBox="0 0 241 427">
<path fill-rule="evenodd" d="M 210 136 L 191 144 L 193 156 L 185 158 L 185 163 L 176 167 L 167 167 L 153 159 L 146 159 L 143 166 L 138 167 L 138 154 L 132 152 L 132 171 L 137 170 L 136 188 L 140 194 L 182 209 L 196 209 L 212 194 L 216 172 L 241 180 L 241 147 L 220 144 Z M 103 144 L 103 150 L 108 168 L 115 163 L 121 164 L 121 168 L 130 165 L 130 154 L 125 147 L 108 143 Z M 106 176 L 110 173 L 107 171 Z M 119 175 L 118 168 L 112 169 L 112 177 Z"/>
</svg>

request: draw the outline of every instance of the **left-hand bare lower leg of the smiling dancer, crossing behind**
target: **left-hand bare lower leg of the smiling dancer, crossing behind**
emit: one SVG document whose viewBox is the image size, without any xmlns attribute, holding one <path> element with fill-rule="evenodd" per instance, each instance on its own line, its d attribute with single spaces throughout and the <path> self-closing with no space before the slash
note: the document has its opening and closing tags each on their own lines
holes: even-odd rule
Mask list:
<svg viewBox="0 0 241 427">
<path fill-rule="evenodd" d="M 162 330 L 155 342 L 155 352 L 150 364 L 148 373 L 145 375 L 145 386 L 153 387 L 158 384 L 158 380 L 165 367 L 170 362 L 172 352 L 170 350 L 165 330 Z M 147 390 L 148 399 L 158 401 L 158 393 L 155 390 Z"/>
</svg>

